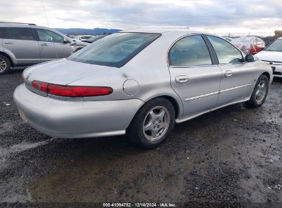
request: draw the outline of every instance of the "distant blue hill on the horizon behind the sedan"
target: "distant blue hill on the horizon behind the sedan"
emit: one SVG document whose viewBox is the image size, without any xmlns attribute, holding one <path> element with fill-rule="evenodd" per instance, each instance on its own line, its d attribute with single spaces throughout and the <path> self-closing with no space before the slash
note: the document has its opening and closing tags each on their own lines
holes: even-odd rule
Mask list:
<svg viewBox="0 0 282 208">
<path fill-rule="evenodd" d="M 88 34 L 88 35 L 102 35 L 106 34 L 114 34 L 121 29 L 106 29 L 106 28 L 94 28 L 94 29 L 84 29 L 84 28 L 54 28 L 60 31 L 62 34 Z"/>
</svg>

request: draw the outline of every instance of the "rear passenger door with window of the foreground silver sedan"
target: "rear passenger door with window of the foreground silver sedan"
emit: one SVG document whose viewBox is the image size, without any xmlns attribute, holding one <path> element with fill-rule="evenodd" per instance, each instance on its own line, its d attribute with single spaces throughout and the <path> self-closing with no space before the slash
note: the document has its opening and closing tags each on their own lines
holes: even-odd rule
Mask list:
<svg viewBox="0 0 282 208">
<path fill-rule="evenodd" d="M 222 70 L 200 35 L 177 40 L 169 50 L 169 73 L 174 91 L 188 116 L 215 107 Z"/>
</svg>

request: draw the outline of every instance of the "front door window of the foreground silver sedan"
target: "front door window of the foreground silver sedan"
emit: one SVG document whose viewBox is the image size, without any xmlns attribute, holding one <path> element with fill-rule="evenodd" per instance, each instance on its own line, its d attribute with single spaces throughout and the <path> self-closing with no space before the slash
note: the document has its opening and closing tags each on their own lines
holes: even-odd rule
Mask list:
<svg viewBox="0 0 282 208">
<path fill-rule="evenodd" d="M 236 64 L 244 62 L 242 53 L 233 47 L 232 44 L 215 36 L 207 36 L 215 53 L 218 56 L 220 64 Z"/>
</svg>

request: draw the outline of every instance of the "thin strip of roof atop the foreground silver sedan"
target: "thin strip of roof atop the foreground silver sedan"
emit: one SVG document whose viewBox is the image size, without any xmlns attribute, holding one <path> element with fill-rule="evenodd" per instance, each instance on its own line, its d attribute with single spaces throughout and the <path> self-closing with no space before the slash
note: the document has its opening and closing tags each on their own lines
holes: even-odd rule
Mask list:
<svg viewBox="0 0 282 208">
<path fill-rule="evenodd" d="M 183 33 L 183 31 L 187 31 L 187 34 L 207 34 L 202 31 L 193 31 L 189 29 L 189 27 L 143 27 L 139 29 L 126 29 L 119 32 L 139 32 L 139 33 L 152 33 L 152 34 L 163 34 L 166 32 L 179 32 Z"/>
</svg>

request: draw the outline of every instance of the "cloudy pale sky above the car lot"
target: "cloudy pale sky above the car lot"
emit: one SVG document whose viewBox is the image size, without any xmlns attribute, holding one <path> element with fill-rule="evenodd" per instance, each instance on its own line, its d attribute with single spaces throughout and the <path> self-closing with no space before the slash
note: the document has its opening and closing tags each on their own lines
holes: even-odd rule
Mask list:
<svg viewBox="0 0 282 208">
<path fill-rule="evenodd" d="M 0 21 L 52 28 L 190 27 L 210 32 L 282 30 L 282 0 L 0 0 Z M 47 18 L 45 16 L 45 12 Z"/>
</svg>

